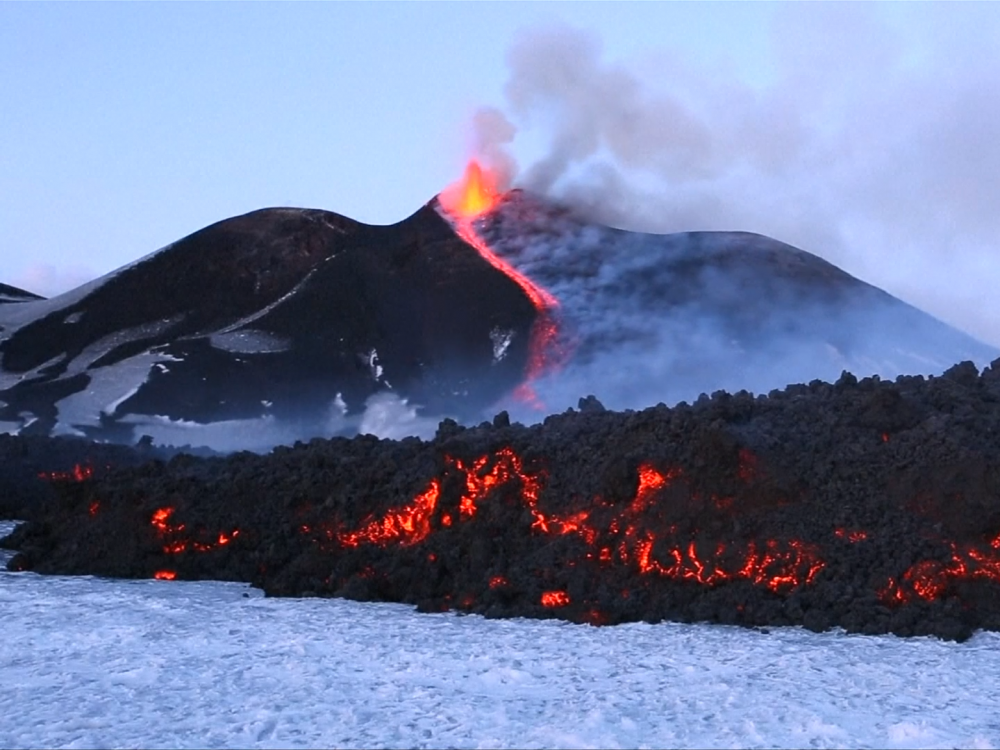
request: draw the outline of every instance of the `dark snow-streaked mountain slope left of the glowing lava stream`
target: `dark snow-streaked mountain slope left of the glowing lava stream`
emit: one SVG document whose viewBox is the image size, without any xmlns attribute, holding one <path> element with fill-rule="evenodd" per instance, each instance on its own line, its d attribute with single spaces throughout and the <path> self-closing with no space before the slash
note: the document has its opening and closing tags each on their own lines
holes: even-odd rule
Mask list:
<svg viewBox="0 0 1000 750">
<path fill-rule="evenodd" d="M 533 314 L 428 208 L 389 227 L 255 211 L 17 307 L 0 314 L 0 420 L 124 440 L 190 423 L 330 434 L 378 391 L 462 413 L 516 384 Z"/>
</svg>

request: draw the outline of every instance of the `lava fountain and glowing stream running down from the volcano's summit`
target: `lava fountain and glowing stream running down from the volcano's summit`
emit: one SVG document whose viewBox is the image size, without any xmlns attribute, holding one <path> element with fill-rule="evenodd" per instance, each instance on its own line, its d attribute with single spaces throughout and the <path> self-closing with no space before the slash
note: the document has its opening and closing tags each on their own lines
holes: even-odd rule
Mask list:
<svg viewBox="0 0 1000 750">
<path fill-rule="evenodd" d="M 475 160 L 469 162 L 462 180 L 449 186 L 438 196 L 441 208 L 454 220 L 458 236 L 472 245 L 487 263 L 517 284 L 538 313 L 528 345 L 525 383 L 517 389 L 515 395 L 540 408 L 541 404 L 531 388 L 531 382 L 557 367 L 563 359 L 563 354 L 556 346 L 559 325 L 555 311 L 559 308 L 559 300 L 500 258 L 476 232 L 473 222 L 493 209 L 499 200 L 495 176 Z"/>
</svg>

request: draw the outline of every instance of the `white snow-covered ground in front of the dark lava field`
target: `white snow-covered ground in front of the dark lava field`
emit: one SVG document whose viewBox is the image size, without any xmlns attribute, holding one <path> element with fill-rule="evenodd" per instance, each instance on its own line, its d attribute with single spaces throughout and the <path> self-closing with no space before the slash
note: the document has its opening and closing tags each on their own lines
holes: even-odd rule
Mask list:
<svg viewBox="0 0 1000 750">
<path fill-rule="evenodd" d="M 993 633 L 594 628 L 6 572 L 0 622 L 2 747 L 1000 746 Z"/>
</svg>

